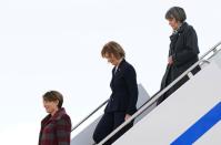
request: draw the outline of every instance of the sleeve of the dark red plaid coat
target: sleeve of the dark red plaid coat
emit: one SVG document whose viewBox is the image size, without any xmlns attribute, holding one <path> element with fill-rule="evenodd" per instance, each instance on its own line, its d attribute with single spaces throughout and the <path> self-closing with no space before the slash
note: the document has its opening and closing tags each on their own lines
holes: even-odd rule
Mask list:
<svg viewBox="0 0 221 145">
<path fill-rule="evenodd" d="M 70 145 L 71 121 L 69 116 L 63 116 L 57 122 L 56 135 L 58 145 Z"/>
</svg>

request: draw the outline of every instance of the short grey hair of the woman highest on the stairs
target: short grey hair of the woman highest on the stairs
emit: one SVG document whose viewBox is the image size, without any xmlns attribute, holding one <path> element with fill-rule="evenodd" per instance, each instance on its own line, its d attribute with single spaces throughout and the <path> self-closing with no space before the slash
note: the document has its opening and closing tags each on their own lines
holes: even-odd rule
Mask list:
<svg viewBox="0 0 221 145">
<path fill-rule="evenodd" d="M 170 8 L 165 13 L 165 19 L 173 19 L 173 18 L 177 21 L 180 21 L 181 23 L 184 22 L 187 19 L 185 11 L 180 7 Z"/>
</svg>

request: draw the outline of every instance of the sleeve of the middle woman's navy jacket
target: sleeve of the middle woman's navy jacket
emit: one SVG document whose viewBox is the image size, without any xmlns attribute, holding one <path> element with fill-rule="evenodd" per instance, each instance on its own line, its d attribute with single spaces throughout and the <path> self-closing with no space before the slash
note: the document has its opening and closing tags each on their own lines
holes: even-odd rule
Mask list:
<svg viewBox="0 0 221 145">
<path fill-rule="evenodd" d="M 129 90 L 129 105 L 125 113 L 132 115 L 137 111 L 138 101 L 138 84 L 134 69 L 129 66 L 124 76 Z"/>
</svg>

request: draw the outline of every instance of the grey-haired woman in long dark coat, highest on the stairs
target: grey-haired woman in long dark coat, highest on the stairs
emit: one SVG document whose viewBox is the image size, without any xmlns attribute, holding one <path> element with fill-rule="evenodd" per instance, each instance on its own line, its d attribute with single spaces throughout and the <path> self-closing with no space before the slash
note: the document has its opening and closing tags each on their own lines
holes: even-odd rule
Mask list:
<svg viewBox="0 0 221 145">
<path fill-rule="evenodd" d="M 165 13 L 165 19 L 169 21 L 173 33 L 170 37 L 171 42 L 168 66 L 161 82 L 161 90 L 168 86 L 192 64 L 198 62 L 198 54 L 200 53 L 195 30 L 185 22 L 187 15 L 184 10 L 180 7 L 172 7 Z M 199 70 L 199 66 L 197 66 L 192 73 L 195 74 Z M 175 85 L 173 85 L 173 87 L 159 99 L 158 104 L 164 101 L 187 81 L 188 76 L 181 79 Z"/>
</svg>

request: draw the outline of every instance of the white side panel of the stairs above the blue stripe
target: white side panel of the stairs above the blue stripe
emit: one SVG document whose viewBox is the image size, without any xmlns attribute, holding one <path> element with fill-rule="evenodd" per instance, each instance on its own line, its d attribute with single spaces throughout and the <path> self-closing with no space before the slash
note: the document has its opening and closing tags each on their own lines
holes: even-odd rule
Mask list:
<svg viewBox="0 0 221 145">
<path fill-rule="evenodd" d="M 171 144 L 221 101 L 220 74 L 220 68 L 215 62 L 211 62 L 119 138 L 114 145 Z M 220 134 L 213 134 L 213 136 L 217 135 L 220 136 Z M 220 141 L 217 143 L 221 144 Z"/>
</svg>

